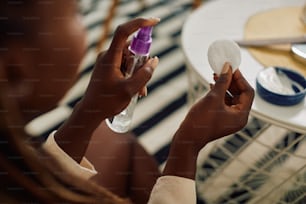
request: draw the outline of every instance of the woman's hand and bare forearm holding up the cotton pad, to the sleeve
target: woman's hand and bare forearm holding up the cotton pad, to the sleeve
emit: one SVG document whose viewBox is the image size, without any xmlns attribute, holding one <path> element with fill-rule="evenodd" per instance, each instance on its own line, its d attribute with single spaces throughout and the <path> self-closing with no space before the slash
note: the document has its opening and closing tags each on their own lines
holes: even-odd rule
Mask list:
<svg viewBox="0 0 306 204">
<path fill-rule="evenodd" d="M 215 85 L 192 106 L 174 135 L 164 174 L 194 179 L 199 151 L 207 143 L 243 128 L 253 98 L 254 90 L 241 72 L 232 74 L 226 63 Z"/>
</svg>

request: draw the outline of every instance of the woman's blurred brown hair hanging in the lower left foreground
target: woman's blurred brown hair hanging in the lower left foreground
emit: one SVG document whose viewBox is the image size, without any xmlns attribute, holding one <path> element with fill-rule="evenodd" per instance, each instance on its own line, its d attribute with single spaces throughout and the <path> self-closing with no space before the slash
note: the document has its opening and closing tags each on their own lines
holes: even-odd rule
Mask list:
<svg viewBox="0 0 306 204">
<path fill-rule="evenodd" d="M 0 83 L 0 197 L 8 203 L 127 203 L 94 182 L 55 175 L 56 160 L 44 165 L 43 151 L 32 147 L 19 120 L 18 108 Z M 51 167 L 52 166 L 52 167 Z M 71 185 L 69 181 L 74 181 Z"/>
</svg>

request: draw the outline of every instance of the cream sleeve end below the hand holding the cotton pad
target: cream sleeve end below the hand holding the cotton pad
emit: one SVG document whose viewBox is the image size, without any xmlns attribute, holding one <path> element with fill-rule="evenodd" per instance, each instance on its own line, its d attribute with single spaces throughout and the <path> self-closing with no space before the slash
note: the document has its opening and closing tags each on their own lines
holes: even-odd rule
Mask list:
<svg viewBox="0 0 306 204">
<path fill-rule="evenodd" d="M 195 181 L 177 176 L 162 176 L 153 187 L 148 204 L 195 204 Z"/>
</svg>

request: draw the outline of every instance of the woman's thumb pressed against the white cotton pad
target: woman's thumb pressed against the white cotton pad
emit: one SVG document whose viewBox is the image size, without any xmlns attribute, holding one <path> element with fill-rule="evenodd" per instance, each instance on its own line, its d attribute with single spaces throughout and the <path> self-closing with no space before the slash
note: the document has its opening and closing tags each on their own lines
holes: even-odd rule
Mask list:
<svg viewBox="0 0 306 204">
<path fill-rule="evenodd" d="M 214 89 L 222 94 L 226 93 L 226 90 L 230 87 L 232 81 L 232 68 L 228 62 L 223 66 L 222 72 L 214 85 Z"/>
</svg>

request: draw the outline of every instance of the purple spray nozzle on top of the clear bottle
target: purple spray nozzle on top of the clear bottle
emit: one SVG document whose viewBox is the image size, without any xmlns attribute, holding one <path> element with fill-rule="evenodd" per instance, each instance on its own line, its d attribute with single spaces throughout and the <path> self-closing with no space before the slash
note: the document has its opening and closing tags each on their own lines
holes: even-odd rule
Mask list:
<svg viewBox="0 0 306 204">
<path fill-rule="evenodd" d="M 135 54 L 148 55 L 152 43 L 152 26 L 140 28 L 133 37 L 130 50 Z"/>
</svg>

